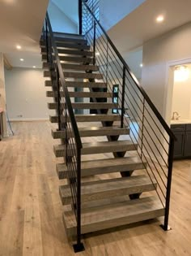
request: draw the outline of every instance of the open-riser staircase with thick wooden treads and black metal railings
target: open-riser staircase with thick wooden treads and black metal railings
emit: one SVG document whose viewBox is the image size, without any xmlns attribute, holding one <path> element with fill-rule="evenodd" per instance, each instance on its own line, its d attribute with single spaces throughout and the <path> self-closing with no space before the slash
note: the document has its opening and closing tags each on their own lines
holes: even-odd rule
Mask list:
<svg viewBox="0 0 191 256">
<path fill-rule="evenodd" d="M 84 7 L 94 17 L 86 3 Z M 96 22 L 95 18 L 94 24 Z M 155 162 L 151 163 L 144 153 L 143 124 L 137 131 L 134 128 L 136 120 L 125 115 L 124 73 L 121 74 L 123 98 L 121 103 L 116 103 L 111 87 L 114 72 L 110 80 L 105 79 L 104 63 L 99 61 L 100 57 L 96 58 L 95 41 L 98 46 L 100 38 L 93 38 L 94 45 L 91 46 L 92 41 L 81 35 L 63 33 L 58 37 L 52 31 L 47 14 L 44 37 L 40 41 L 44 76 L 47 77 L 46 96 L 50 99 L 48 108 L 56 113 L 49 119 L 58 124 L 58 128 L 52 130 L 52 136 L 61 141 L 53 147 L 53 152 L 56 158 L 62 159 L 56 170 L 58 178 L 63 180 L 59 188 L 63 223 L 67 236 L 77 236 L 75 251 L 83 249 L 81 235 L 87 232 L 164 215 L 168 217 L 168 205 L 161 199 L 161 183 L 154 172 Z M 101 46 L 99 49 L 101 54 Z M 143 98 L 144 102 L 150 100 L 145 94 Z M 118 113 L 112 114 L 112 109 L 117 109 Z M 74 115 L 79 110 L 82 114 Z M 96 114 L 91 114 L 92 111 Z M 158 111 L 154 113 L 159 114 Z M 161 119 L 159 116 L 159 124 Z M 163 122 L 161 125 L 165 126 Z M 134 132 L 138 133 L 135 138 L 132 136 Z M 169 154 L 173 151 L 173 140 L 174 137 Z M 171 179 L 169 159 L 168 177 Z M 168 219 L 165 224 L 167 229 Z"/>
</svg>

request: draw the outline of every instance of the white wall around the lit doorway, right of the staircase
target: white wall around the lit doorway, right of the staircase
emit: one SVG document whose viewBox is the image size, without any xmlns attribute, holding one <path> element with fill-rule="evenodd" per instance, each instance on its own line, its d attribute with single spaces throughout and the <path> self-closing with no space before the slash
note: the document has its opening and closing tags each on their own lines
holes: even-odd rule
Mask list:
<svg viewBox="0 0 191 256">
<path fill-rule="evenodd" d="M 190 59 L 190 44 L 191 23 L 143 45 L 142 86 L 168 124 L 171 118 L 173 89 L 169 67 L 175 65 L 174 62 L 177 64 L 179 60 Z"/>
</svg>

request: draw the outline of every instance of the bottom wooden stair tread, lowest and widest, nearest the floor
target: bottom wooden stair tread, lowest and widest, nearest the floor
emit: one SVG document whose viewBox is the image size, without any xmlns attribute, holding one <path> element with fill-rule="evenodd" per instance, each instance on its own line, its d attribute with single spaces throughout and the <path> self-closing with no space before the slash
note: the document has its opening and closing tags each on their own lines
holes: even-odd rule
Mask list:
<svg viewBox="0 0 191 256">
<path fill-rule="evenodd" d="M 74 211 L 64 207 L 63 221 L 68 236 L 76 233 Z M 82 211 L 82 233 L 95 232 L 106 228 L 154 219 L 164 215 L 164 209 L 157 197 L 143 197 L 131 201 L 118 202 L 107 206 L 96 206 Z"/>
</svg>

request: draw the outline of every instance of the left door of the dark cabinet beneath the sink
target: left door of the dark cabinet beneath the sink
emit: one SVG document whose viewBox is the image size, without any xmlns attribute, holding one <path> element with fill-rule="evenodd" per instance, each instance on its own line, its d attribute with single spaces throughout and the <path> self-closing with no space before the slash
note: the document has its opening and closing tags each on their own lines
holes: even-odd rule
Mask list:
<svg viewBox="0 0 191 256">
<path fill-rule="evenodd" d="M 185 132 L 174 132 L 177 141 L 175 141 L 174 158 L 183 158 L 185 147 Z M 191 132 L 190 132 L 191 139 Z"/>
</svg>

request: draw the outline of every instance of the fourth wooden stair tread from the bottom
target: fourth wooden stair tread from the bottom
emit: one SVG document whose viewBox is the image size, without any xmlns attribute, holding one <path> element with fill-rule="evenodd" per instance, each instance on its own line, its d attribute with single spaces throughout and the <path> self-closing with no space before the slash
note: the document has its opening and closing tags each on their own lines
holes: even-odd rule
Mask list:
<svg viewBox="0 0 191 256">
<path fill-rule="evenodd" d="M 138 145 L 132 141 L 100 141 L 83 143 L 82 154 L 101 154 L 112 152 L 124 152 L 130 150 L 137 150 Z M 56 157 L 63 157 L 65 152 L 64 145 L 54 145 L 53 151 Z M 70 152 L 69 152 L 70 153 Z"/>
</svg>

